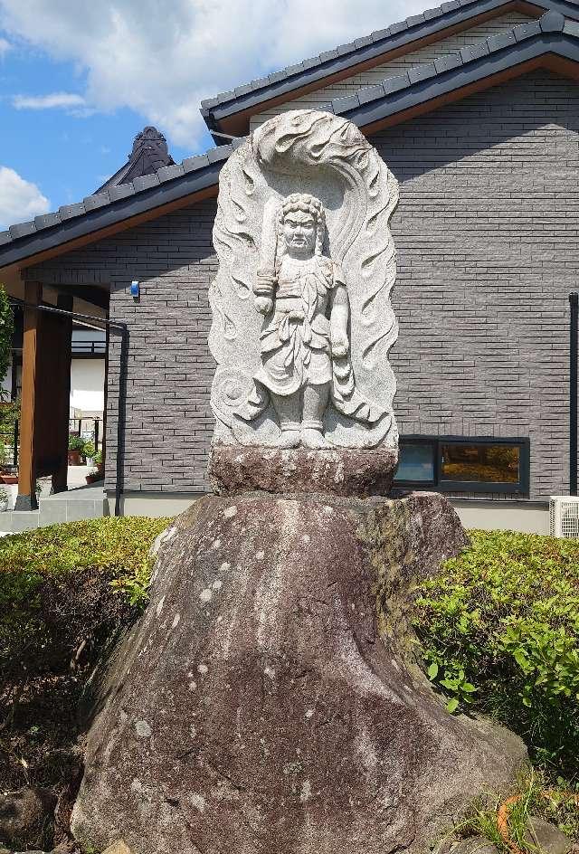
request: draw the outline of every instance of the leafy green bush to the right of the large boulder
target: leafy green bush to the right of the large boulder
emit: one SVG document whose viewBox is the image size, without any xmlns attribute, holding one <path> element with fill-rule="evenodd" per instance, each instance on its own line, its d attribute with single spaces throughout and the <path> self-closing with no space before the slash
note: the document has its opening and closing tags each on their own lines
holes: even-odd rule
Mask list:
<svg viewBox="0 0 579 854">
<path fill-rule="evenodd" d="M 534 759 L 579 773 L 579 543 L 473 531 L 422 583 L 414 627 L 449 710 L 469 707 L 521 735 Z"/>
</svg>

